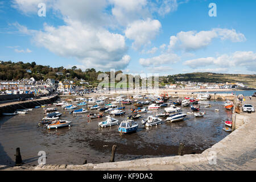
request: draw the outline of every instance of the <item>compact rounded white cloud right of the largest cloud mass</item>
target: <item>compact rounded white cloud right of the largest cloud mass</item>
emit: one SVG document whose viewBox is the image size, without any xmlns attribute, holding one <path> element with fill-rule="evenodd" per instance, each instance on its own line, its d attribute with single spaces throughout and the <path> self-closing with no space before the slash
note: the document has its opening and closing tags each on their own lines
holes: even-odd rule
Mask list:
<svg viewBox="0 0 256 182">
<path fill-rule="evenodd" d="M 161 27 L 159 20 L 137 20 L 126 28 L 125 36 L 133 42 L 133 48 L 139 49 L 145 44 L 150 44 L 151 40 L 155 38 Z"/>
</svg>

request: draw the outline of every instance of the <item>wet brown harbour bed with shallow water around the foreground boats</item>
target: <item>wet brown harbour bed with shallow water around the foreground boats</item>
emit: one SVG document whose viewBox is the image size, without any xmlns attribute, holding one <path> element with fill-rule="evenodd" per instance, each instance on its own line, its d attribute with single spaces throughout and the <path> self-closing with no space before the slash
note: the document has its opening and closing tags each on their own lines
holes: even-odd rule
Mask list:
<svg viewBox="0 0 256 182">
<path fill-rule="evenodd" d="M 223 108 L 222 101 L 200 101 L 202 118 L 187 115 L 184 121 L 162 122 L 162 125 L 145 128 L 138 119 L 136 133 L 121 135 L 118 126 L 98 128 L 97 123 L 105 118 L 88 119 L 87 114 L 69 114 L 69 111 L 57 107 L 63 113 L 61 119 L 73 121 L 73 126 L 57 130 L 38 127 L 43 118 L 43 109 L 34 109 L 26 115 L 0 118 L 0 164 L 12 166 L 15 161 L 15 148 L 20 147 L 23 162 L 38 164 L 38 152 L 46 151 L 47 164 L 82 164 L 109 162 L 113 144 L 117 145 L 115 161 L 177 155 L 179 143 L 185 143 L 185 154 L 201 153 L 217 143 L 226 135 L 222 130 L 225 119 L 232 118 L 232 112 Z M 204 107 L 204 105 L 212 107 Z M 125 105 L 124 105 L 125 106 Z M 51 107 L 51 106 L 49 106 Z M 119 121 L 130 115 L 114 117 Z M 182 112 L 191 111 L 182 107 Z M 214 109 L 220 109 L 219 112 Z M 164 111 L 160 109 L 159 112 Z M 143 113 L 143 118 L 153 113 Z M 106 115 L 106 114 L 105 114 Z"/>
</svg>

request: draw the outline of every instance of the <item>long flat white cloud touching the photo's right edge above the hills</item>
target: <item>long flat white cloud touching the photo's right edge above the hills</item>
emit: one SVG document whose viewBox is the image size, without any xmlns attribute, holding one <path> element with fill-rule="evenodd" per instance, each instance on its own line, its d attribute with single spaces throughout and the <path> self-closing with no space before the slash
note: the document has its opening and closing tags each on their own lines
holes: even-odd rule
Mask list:
<svg viewBox="0 0 256 182">
<path fill-rule="evenodd" d="M 218 57 L 203 57 L 199 59 L 187 60 L 183 64 L 191 68 L 207 67 L 209 65 L 215 65 L 222 68 L 245 67 L 252 71 L 252 68 L 255 68 L 255 63 L 256 53 L 253 51 L 236 51 L 231 55 L 224 54 Z"/>
</svg>

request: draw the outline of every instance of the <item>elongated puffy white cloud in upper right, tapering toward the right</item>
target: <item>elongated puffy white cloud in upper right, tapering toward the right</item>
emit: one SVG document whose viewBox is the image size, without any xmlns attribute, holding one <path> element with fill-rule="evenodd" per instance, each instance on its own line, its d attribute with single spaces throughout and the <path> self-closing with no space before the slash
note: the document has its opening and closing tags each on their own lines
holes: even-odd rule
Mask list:
<svg viewBox="0 0 256 182">
<path fill-rule="evenodd" d="M 187 31 L 179 32 L 176 36 L 170 37 L 169 49 L 184 49 L 192 51 L 207 47 L 213 38 L 221 40 L 230 40 L 232 42 L 243 42 L 246 40 L 245 35 L 237 33 L 236 30 L 213 28 L 210 31 Z"/>
</svg>

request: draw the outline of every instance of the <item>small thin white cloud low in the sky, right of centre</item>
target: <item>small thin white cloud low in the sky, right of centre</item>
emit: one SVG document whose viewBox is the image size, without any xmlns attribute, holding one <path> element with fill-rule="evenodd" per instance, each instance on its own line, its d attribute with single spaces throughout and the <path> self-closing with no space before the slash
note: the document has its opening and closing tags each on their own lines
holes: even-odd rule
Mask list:
<svg viewBox="0 0 256 182">
<path fill-rule="evenodd" d="M 144 67 L 149 67 L 151 65 L 161 65 L 161 64 L 170 64 L 176 63 L 180 60 L 180 57 L 174 53 L 165 53 L 159 56 L 151 57 L 148 59 L 139 59 L 139 63 Z"/>
</svg>

